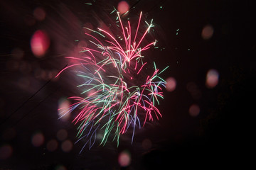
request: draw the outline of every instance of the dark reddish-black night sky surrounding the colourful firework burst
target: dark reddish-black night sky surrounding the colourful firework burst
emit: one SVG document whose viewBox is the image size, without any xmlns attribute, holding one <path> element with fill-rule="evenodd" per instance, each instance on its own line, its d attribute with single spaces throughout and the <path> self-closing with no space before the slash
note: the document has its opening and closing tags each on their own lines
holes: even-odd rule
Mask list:
<svg viewBox="0 0 256 170">
<path fill-rule="evenodd" d="M 208 169 L 243 164 L 252 152 L 255 12 L 250 1 L 231 0 L 127 1 L 122 17 L 134 29 L 141 11 L 154 19 L 145 41 L 157 48 L 146 60 L 169 66 L 161 77 L 174 86 L 160 100 L 163 117 L 138 128 L 132 144 L 131 132 L 119 147 L 75 144 L 75 115 L 59 119 L 58 108 L 80 94 L 79 80 L 68 71 L 54 77 L 86 45 L 83 27 L 118 33 L 111 12 L 119 2 L 0 1 L 0 169 Z M 31 47 L 38 30 L 43 55 Z"/>
</svg>

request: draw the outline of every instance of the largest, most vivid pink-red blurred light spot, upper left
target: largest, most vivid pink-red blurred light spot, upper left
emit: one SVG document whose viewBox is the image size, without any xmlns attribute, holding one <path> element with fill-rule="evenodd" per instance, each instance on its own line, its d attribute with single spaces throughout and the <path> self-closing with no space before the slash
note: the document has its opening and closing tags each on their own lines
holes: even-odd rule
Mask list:
<svg viewBox="0 0 256 170">
<path fill-rule="evenodd" d="M 31 50 L 38 58 L 43 57 L 50 46 L 48 35 L 43 30 L 37 30 L 31 38 Z"/>
</svg>

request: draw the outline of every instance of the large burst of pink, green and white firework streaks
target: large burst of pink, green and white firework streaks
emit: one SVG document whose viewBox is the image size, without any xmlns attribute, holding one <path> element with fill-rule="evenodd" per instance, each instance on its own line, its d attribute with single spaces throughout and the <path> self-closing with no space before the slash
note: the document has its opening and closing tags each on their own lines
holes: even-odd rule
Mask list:
<svg viewBox="0 0 256 170">
<path fill-rule="evenodd" d="M 159 104 L 159 98 L 164 98 L 161 87 L 165 86 L 166 81 L 161 79 L 159 74 L 168 67 L 160 72 L 154 63 L 152 75 L 142 74 L 147 64 L 142 60 L 144 58 L 142 52 L 156 44 L 154 41 L 142 45 L 146 34 L 154 27 L 152 21 L 150 24 L 146 23 L 148 27 L 139 36 L 142 13 L 134 35 L 129 21 L 127 26 L 124 26 L 119 13 L 117 16 L 122 28 L 122 41 L 101 28 L 98 28 L 98 31 L 91 30 L 92 34 L 104 40 L 101 41 L 100 38 L 96 38 L 97 36 L 85 33 L 92 47 L 83 47 L 82 57 L 67 57 L 75 60 L 76 63 L 65 69 L 75 68 L 77 76 L 85 83 L 78 86 L 83 89 L 80 96 L 70 97 L 74 102 L 68 112 L 63 109 L 63 115 L 69 112 L 76 114 L 73 123 L 78 124 L 78 141 L 87 139 L 85 145 L 88 144 L 90 148 L 96 138 L 99 138 L 97 137 L 99 133 L 100 145 L 105 145 L 111 137 L 113 141 L 117 140 L 118 146 L 119 136 L 128 129 L 133 130 L 133 141 L 135 127 L 141 128 L 147 121 L 154 118 L 158 120 L 161 117 L 156 103 Z M 85 29 L 90 30 L 90 28 Z M 144 79 L 144 83 L 132 84 L 134 77 L 139 77 L 139 81 Z"/>
</svg>

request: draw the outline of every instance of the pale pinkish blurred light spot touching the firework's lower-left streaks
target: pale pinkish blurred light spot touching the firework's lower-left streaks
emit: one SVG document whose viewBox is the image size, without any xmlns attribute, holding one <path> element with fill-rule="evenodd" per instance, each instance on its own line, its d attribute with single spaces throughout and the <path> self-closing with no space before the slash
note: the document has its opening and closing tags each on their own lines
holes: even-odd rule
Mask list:
<svg viewBox="0 0 256 170">
<path fill-rule="evenodd" d="M 70 118 L 70 102 L 65 98 L 60 98 L 58 102 L 58 116 L 60 120 L 66 121 Z"/>
</svg>

